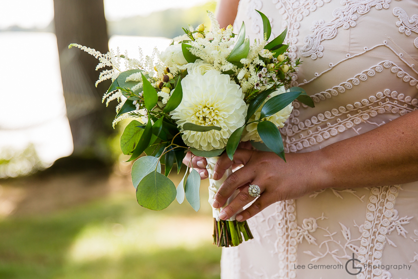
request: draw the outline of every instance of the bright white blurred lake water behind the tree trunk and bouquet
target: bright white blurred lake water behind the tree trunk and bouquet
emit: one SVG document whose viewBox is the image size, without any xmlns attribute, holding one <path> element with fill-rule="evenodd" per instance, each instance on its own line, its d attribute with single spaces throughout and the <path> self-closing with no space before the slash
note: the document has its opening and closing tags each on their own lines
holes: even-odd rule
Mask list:
<svg viewBox="0 0 418 279">
<path fill-rule="evenodd" d="M 160 51 L 167 38 L 112 36 L 109 47 L 138 58 Z M 61 83 L 55 34 L 0 32 L 0 153 L 33 143 L 41 161 L 71 154 L 73 145 Z M 99 73 L 98 73 L 99 74 Z"/>
</svg>

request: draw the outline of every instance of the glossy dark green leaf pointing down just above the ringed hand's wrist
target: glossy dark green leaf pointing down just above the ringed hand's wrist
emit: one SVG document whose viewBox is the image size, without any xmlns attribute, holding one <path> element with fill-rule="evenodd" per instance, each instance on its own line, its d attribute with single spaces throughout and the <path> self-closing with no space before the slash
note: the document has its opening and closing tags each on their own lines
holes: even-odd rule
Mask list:
<svg viewBox="0 0 418 279">
<path fill-rule="evenodd" d="M 258 123 L 257 132 L 265 145 L 286 162 L 282 135 L 280 135 L 276 125 L 270 121 L 264 120 Z"/>
</svg>

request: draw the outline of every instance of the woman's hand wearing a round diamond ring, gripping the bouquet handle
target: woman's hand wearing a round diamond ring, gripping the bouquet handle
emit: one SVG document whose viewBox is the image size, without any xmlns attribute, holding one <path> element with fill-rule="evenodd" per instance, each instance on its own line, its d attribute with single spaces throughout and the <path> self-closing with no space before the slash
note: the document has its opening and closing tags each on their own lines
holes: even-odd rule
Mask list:
<svg viewBox="0 0 418 279">
<path fill-rule="evenodd" d="M 247 220 L 277 201 L 299 198 L 317 190 L 320 174 L 312 155 L 312 152 L 286 154 L 285 163 L 273 152 L 237 149 L 233 162 L 223 154 L 215 166 L 215 180 L 219 180 L 233 163 L 244 166 L 232 173 L 215 195 L 213 207 L 220 208 L 236 189 L 240 189 L 235 199 L 221 211 L 220 219 L 230 218 L 255 199 L 248 194 L 251 184 L 260 187 L 261 195 L 236 216 L 238 221 Z"/>
</svg>

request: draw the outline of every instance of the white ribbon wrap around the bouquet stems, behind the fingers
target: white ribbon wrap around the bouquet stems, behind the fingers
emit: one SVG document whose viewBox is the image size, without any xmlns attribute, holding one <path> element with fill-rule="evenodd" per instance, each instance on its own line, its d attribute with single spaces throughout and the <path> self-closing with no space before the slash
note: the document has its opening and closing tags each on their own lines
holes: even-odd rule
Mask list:
<svg viewBox="0 0 418 279">
<path fill-rule="evenodd" d="M 215 169 L 215 164 L 216 162 L 218 162 L 219 157 L 212 157 L 212 158 L 206 158 L 206 162 L 208 163 L 206 166 L 206 169 L 208 170 L 208 175 L 209 175 L 209 204 L 213 205 L 214 202 L 214 197 L 216 192 L 219 190 L 219 187 L 222 185 L 222 183 L 225 181 L 225 179 L 231 175 L 232 173 L 232 167 L 228 168 L 227 170 L 225 170 L 225 173 L 223 174 L 222 178 L 220 180 L 214 180 L 213 179 L 213 174 L 214 174 L 214 169 Z M 229 205 L 230 202 L 232 202 L 232 200 L 238 195 L 238 193 L 240 192 L 240 190 L 235 190 L 235 192 L 232 194 L 232 196 L 230 196 L 228 198 L 228 200 L 226 201 L 226 203 L 223 205 L 223 207 L 219 208 L 219 209 L 215 209 L 212 207 L 212 216 L 214 218 L 216 218 L 217 221 L 219 221 L 219 213 L 222 209 L 224 209 L 226 206 Z M 231 216 L 231 218 L 227 219 L 227 221 L 234 221 L 235 220 L 235 216 L 241 212 L 242 209 L 238 210 L 237 213 L 235 213 L 233 216 Z"/>
</svg>

